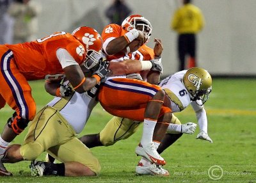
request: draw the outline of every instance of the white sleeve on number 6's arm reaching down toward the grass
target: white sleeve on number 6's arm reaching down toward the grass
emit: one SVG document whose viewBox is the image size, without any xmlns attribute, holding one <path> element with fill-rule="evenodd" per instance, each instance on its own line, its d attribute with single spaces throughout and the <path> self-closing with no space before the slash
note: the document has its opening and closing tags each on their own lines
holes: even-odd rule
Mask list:
<svg viewBox="0 0 256 183">
<path fill-rule="evenodd" d="M 207 115 L 204 109 L 204 106 L 199 106 L 195 101 L 191 102 L 191 106 L 193 107 L 196 113 L 196 119 L 200 128 L 200 131 L 204 131 L 207 133 Z"/>
</svg>

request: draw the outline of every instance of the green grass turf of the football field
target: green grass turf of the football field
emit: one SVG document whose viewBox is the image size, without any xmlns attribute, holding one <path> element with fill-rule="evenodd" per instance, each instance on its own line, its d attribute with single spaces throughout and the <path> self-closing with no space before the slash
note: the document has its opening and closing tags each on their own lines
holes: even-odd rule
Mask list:
<svg viewBox="0 0 256 183">
<path fill-rule="evenodd" d="M 44 82 L 31 82 L 37 109 L 51 96 Z M 134 153 L 141 129 L 131 138 L 112 147 L 92 148 L 100 160 L 99 177 L 30 177 L 29 162 L 6 164 L 13 177 L 0 177 L 0 182 L 256 182 L 256 79 L 214 79 L 212 93 L 205 104 L 209 120 L 209 136 L 213 143 L 184 134 L 163 152 L 170 177 L 136 176 L 140 157 Z M 13 111 L 6 106 L 0 111 L 0 129 Z M 191 107 L 176 114 L 180 121 L 196 122 Z M 97 106 L 82 134 L 99 132 L 111 118 Z M 26 131 L 13 141 L 22 143 Z M 42 154 L 39 159 L 43 160 Z M 213 180 L 218 179 L 218 180 Z"/>
</svg>

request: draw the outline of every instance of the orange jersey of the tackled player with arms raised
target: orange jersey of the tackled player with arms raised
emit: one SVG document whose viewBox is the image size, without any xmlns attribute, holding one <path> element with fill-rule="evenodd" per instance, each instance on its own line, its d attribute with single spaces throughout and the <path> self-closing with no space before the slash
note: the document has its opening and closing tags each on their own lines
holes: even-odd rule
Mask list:
<svg viewBox="0 0 256 183">
<path fill-rule="evenodd" d="M 102 31 L 102 41 L 103 43 L 108 38 L 118 38 L 123 36 L 127 31 L 122 28 L 122 26 L 118 26 L 117 24 L 109 24 Z M 124 58 L 124 60 L 152 60 L 154 58 L 154 51 L 147 45 L 143 44 L 137 51 L 134 51 L 129 54 L 125 54 L 124 52 L 118 52 L 115 55 L 107 56 L 107 60 L 117 60 L 119 58 Z"/>
</svg>

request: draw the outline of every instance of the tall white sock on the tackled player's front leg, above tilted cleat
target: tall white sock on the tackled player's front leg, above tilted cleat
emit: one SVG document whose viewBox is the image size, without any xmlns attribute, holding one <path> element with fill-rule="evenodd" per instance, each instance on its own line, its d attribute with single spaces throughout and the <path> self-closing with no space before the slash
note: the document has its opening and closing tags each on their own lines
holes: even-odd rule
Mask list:
<svg viewBox="0 0 256 183">
<path fill-rule="evenodd" d="M 144 119 L 143 133 L 142 133 L 142 138 L 140 141 L 142 146 L 152 143 L 152 138 L 153 138 L 153 133 L 154 133 L 155 127 L 156 127 L 156 121 Z"/>
</svg>

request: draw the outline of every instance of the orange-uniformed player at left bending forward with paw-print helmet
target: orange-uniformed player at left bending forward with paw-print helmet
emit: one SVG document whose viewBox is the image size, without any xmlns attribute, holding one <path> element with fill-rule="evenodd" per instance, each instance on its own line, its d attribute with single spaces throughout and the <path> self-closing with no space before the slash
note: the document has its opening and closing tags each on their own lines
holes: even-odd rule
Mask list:
<svg viewBox="0 0 256 183">
<path fill-rule="evenodd" d="M 36 113 L 35 101 L 28 81 L 67 77 L 76 92 L 83 93 L 108 74 L 102 59 L 102 38 L 93 28 L 79 27 L 72 34 L 63 31 L 33 42 L 0 45 L 0 109 L 7 103 L 15 113 L 8 119 L 0 136 L 0 159 L 10 142 L 24 131 Z M 80 65 L 94 69 L 92 77 L 84 77 Z M 57 90 L 56 95 L 65 95 Z M 12 175 L 0 161 L 0 175 Z"/>
</svg>

